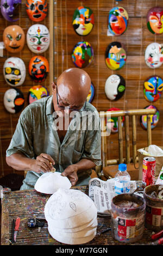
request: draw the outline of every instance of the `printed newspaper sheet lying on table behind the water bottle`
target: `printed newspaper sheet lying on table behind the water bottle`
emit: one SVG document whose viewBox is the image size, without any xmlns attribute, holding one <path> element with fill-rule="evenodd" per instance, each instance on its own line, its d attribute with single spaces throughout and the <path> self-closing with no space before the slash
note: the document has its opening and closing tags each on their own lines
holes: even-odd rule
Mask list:
<svg viewBox="0 0 163 256">
<path fill-rule="evenodd" d="M 97 206 L 97 214 L 101 216 L 109 216 L 111 210 L 111 199 L 115 194 L 115 179 L 107 181 L 93 178 L 89 181 L 89 197 Z M 130 182 L 130 193 L 136 190 L 136 181 Z"/>
</svg>

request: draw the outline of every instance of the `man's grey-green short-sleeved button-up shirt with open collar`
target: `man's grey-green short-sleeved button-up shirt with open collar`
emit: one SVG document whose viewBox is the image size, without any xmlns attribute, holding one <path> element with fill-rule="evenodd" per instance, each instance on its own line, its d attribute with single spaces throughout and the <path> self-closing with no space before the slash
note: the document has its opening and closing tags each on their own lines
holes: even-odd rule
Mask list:
<svg viewBox="0 0 163 256">
<path fill-rule="evenodd" d="M 101 129 L 96 108 L 86 103 L 85 111 L 78 112 L 72 118 L 62 143 L 57 132 L 55 114 L 52 96 L 27 106 L 18 119 L 7 156 L 20 152 L 36 159 L 41 153 L 46 153 L 54 159 L 54 167 L 59 172 L 81 159 L 90 159 L 96 165 L 101 165 Z M 90 171 L 80 173 L 78 177 L 82 178 L 86 173 L 90 174 Z"/>
</svg>

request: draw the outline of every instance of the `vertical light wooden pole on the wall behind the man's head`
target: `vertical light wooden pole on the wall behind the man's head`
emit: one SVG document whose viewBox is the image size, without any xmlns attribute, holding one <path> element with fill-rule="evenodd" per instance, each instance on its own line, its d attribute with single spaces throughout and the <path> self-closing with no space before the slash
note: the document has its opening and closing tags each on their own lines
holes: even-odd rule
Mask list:
<svg viewBox="0 0 163 256">
<path fill-rule="evenodd" d="M 54 1 L 49 1 L 49 94 L 52 95 L 51 83 L 54 81 Z"/>
</svg>

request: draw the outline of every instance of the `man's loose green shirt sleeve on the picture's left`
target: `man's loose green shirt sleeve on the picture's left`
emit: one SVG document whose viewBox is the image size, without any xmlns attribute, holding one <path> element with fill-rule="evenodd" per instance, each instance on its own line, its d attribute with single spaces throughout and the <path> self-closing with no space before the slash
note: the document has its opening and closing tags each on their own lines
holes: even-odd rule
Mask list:
<svg viewBox="0 0 163 256">
<path fill-rule="evenodd" d="M 23 112 L 18 119 L 6 156 L 15 153 L 23 153 L 27 157 L 34 158 L 31 119 L 29 114 Z"/>
</svg>

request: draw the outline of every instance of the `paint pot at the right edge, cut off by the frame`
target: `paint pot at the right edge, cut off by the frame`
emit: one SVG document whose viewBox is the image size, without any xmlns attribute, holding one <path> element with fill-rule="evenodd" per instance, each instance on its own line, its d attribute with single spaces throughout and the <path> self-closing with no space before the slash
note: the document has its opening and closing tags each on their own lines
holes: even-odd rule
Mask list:
<svg viewBox="0 0 163 256">
<path fill-rule="evenodd" d="M 152 192 L 156 192 L 158 197 L 151 196 Z M 163 186 L 150 185 L 145 187 L 143 197 L 146 201 L 146 218 L 145 227 L 153 231 L 163 229 Z"/>
</svg>

